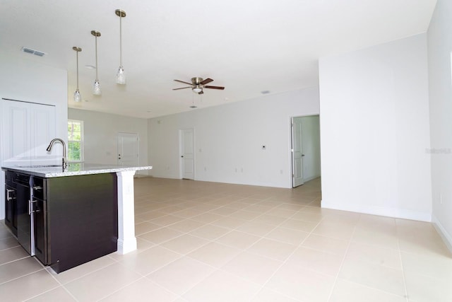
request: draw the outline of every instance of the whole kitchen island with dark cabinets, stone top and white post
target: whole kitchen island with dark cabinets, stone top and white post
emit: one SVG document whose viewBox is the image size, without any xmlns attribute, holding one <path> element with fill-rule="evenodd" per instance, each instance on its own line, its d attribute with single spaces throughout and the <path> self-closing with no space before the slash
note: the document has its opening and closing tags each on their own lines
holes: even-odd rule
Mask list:
<svg viewBox="0 0 452 302">
<path fill-rule="evenodd" d="M 55 272 L 136 250 L 133 175 L 152 167 L 6 165 L 6 225 Z"/>
</svg>

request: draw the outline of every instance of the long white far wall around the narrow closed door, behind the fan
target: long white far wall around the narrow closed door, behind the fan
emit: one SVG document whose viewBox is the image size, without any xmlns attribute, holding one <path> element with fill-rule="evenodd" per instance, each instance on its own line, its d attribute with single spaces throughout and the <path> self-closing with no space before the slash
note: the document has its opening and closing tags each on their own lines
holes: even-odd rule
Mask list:
<svg viewBox="0 0 452 302">
<path fill-rule="evenodd" d="M 290 117 L 316 114 L 313 87 L 150 119 L 150 173 L 181 177 L 179 129 L 193 128 L 196 180 L 292 187 Z"/>
</svg>

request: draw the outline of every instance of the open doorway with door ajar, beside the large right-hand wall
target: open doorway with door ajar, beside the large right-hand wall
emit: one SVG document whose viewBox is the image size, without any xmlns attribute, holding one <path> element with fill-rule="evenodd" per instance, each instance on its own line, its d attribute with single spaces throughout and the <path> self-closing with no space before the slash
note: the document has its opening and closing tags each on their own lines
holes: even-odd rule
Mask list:
<svg viewBox="0 0 452 302">
<path fill-rule="evenodd" d="M 321 175 L 319 115 L 292 117 L 292 187 Z"/>
</svg>

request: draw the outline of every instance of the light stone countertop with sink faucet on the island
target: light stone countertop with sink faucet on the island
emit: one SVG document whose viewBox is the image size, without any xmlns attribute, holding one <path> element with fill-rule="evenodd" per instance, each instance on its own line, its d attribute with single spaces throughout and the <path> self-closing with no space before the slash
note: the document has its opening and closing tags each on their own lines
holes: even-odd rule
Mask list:
<svg viewBox="0 0 452 302">
<path fill-rule="evenodd" d="M 124 171 L 150 170 L 153 167 L 129 167 L 122 165 L 102 165 L 97 163 L 69 163 L 69 167 L 63 170 L 61 165 L 4 165 L 1 170 L 11 170 L 13 172 L 34 175 L 41 178 L 59 178 L 73 175 L 88 175 L 102 173 L 116 173 Z"/>
</svg>

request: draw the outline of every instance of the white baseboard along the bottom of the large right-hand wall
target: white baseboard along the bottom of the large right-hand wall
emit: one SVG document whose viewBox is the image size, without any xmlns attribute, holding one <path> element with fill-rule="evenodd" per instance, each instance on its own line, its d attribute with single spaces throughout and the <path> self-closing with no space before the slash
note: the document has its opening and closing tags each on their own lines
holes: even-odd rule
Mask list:
<svg viewBox="0 0 452 302">
<path fill-rule="evenodd" d="M 411 219 L 417 221 L 432 221 L 432 213 L 423 211 L 412 211 L 407 209 L 393 209 L 384 207 L 359 206 L 356 204 L 335 204 L 327 202 L 325 199 L 321 201 L 321 207 L 326 209 L 335 209 L 341 211 L 353 211 L 362 214 L 371 214 L 379 216 L 387 216 L 400 219 Z"/>
</svg>

